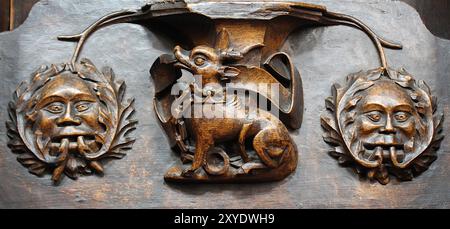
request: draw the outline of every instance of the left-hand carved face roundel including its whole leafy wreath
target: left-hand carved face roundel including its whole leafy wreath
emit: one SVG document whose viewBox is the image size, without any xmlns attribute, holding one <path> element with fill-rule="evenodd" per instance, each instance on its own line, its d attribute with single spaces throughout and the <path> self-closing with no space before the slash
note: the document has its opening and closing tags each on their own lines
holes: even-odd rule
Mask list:
<svg viewBox="0 0 450 229">
<path fill-rule="evenodd" d="M 30 173 L 52 173 L 55 184 L 64 174 L 102 175 L 102 161 L 122 158 L 134 142 L 134 101 L 124 93 L 110 68 L 88 59 L 42 66 L 9 103 L 8 146 Z"/>
</svg>

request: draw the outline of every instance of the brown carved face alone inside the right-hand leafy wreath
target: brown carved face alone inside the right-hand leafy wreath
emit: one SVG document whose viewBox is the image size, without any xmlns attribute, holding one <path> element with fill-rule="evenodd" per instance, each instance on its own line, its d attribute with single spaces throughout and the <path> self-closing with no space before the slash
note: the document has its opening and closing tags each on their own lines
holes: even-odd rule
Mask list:
<svg viewBox="0 0 450 229">
<path fill-rule="evenodd" d="M 357 137 L 351 143 L 352 151 L 369 161 L 390 160 L 395 166 L 410 162 L 414 151 L 428 143 L 423 141 L 430 140 L 424 138 L 430 136 L 431 128 L 427 126 L 430 117 L 426 113 L 431 114 L 431 110 L 420 116 L 407 91 L 389 80 L 379 80 L 360 94 L 355 108 Z"/>
</svg>

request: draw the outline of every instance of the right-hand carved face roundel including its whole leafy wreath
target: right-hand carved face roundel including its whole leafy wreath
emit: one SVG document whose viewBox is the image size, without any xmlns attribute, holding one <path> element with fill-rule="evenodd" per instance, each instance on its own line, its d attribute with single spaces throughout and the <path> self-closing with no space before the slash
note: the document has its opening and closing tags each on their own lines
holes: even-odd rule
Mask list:
<svg viewBox="0 0 450 229">
<path fill-rule="evenodd" d="M 346 87 L 333 87 L 329 115 L 322 116 L 325 140 L 336 146 L 331 154 L 383 184 L 389 173 L 410 180 L 426 170 L 436 158 L 442 117 L 428 86 L 404 70 L 377 69 L 347 80 Z"/>
</svg>

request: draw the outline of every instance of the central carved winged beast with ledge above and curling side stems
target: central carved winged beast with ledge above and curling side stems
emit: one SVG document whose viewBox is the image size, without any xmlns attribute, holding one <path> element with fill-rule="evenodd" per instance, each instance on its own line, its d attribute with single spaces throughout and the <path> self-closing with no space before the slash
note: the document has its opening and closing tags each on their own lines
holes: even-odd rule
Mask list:
<svg viewBox="0 0 450 229">
<path fill-rule="evenodd" d="M 166 173 L 165 180 L 174 182 L 274 181 L 296 169 L 298 152 L 289 129 L 301 126 L 302 82 L 289 54 L 281 51 L 293 31 L 346 25 L 382 46 L 401 48 L 323 6 L 265 1 L 160 1 L 111 13 L 80 34 L 59 38 L 78 41 L 76 59 L 90 34 L 123 22 L 141 24 L 175 43 L 150 69 L 156 116 L 185 164 Z"/>
</svg>

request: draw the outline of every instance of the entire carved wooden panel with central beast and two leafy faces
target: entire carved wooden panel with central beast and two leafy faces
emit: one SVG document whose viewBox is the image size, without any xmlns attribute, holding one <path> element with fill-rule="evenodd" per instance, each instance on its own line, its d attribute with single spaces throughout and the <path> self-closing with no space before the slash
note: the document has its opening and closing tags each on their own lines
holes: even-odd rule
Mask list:
<svg viewBox="0 0 450 229">
<path fill-rule="evenodd" d="M 1 206 L 448 207 L 450 46 L 406 5 L 80 3 L 38 3 L 0 34 Z M 244 118 L 189 118 L 199 104 Z"/>
</svg>

